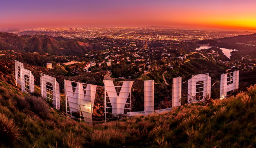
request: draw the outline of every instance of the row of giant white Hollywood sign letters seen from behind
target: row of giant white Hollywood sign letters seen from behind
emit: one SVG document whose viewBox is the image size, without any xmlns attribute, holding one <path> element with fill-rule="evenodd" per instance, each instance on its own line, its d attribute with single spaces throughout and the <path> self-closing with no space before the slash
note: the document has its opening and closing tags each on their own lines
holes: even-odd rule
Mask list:
<svg viewBox="0 0 256 148">
<path fill-rule="evenodd" d="M 34 92 L 34 76 L 30 70 L 23 67 L 23 63 L 15 61 L 16 85 L 26 93 Z M 52 101 L 56 109 L 60 109 L 60 85 L 56 78 L 41 74 L 41 95 Z M 131 89 L 133 81 L 103 80 L 105 85 L 104 108 L 105 119 L 108 114 L 127 116 L 148 115 L 152 113 L 168 112 L 172 107 L 180 106 L 181 77 L 172 78 L 172 107 L 154 110 L 154 80 L 144 81 L 144 111 L 131 112 Z M 222 74 L 220 79 L 220 99 L 227 97 L 235 89 L 238 89 L 239 70 Z M 87 123 L 92 123 L 92 112 L 97 85 L 84 84 L 64 80 L 66 114 L 71 118 L 75 112 L 84 118 Z M 193 102 L 204 100 L 206 95 L 211 97 L 211 77 L 209 74 L 192 75 L 188 80 L 188 102 L 196 96 Z M 193 103 L 190 102 L 190 103 Z M 81 118 L 80 118 L 81 119 Z"/>
</svg>

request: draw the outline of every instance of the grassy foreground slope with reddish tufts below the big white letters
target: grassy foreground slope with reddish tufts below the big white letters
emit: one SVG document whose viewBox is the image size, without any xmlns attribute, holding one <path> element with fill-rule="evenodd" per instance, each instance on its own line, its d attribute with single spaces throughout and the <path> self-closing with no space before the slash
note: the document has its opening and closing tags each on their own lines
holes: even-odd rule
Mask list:
<svg viewBox="0 0 256 148">
<path fill-rule="evenodd" d="M 0 72 L 0 147 L 255 147 L 256 85 L 170 113 L 88 125 L 22 93 Z"/>
</svg>

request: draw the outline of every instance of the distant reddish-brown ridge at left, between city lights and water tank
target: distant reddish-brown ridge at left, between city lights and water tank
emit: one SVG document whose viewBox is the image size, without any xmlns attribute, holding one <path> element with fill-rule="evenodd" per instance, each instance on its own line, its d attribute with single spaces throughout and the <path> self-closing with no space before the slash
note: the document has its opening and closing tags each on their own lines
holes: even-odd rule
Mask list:
<svg viewBox="0 0 256 148">
<path fill-rule="evenodd" d="M 54 55 L 82 55 L 89 50 L 103 49 L 86 39 L 67 39 L 49 35 L 23 35 L 0 32 L 0 50 L 40 52 Z"/>
</svg>

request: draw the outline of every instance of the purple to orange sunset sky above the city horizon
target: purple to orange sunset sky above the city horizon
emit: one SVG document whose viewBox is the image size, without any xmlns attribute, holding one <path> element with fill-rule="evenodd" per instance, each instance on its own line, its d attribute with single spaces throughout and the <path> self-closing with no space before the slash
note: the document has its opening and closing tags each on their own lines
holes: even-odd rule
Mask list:
<svg viewBox="0 0 256 148">
<path fill-rule="evenodd" d="M 1 0 L 0 28 L 256 29 L 256 0 Z"/>
</svg>

